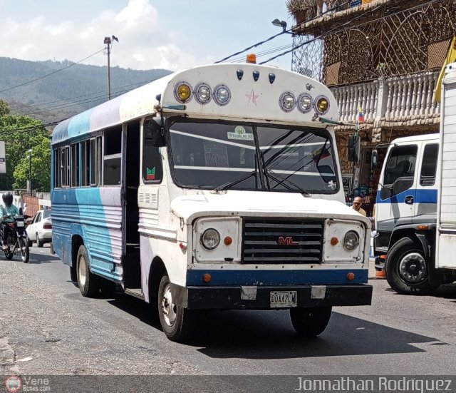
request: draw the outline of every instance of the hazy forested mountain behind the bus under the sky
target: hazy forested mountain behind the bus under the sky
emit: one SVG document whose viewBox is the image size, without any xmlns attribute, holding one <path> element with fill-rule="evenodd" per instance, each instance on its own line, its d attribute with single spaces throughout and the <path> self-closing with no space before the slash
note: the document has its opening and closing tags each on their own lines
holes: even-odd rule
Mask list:
<svg viewBox="0 0 456 393">
<path fill-rule="evenodd" d="M 111 67 L 111 98 L 169 73 Z M 108 99 L 108 67 L 0 57 L 0 98 L 9 102 L 11 112 L 45 124 L 60 121 Z"/>
</svg>

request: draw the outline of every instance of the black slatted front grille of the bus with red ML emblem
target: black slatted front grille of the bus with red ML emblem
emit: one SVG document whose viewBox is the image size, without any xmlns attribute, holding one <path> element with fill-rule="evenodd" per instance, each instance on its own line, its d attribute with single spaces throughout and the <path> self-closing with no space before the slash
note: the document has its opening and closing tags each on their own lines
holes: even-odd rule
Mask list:
<svg viewBox="0 0 456 393">
<path fill-rule="evenodd" d="M 323 220 L 244 218 L 244 263 L 319 263 Z"/>
</svg>

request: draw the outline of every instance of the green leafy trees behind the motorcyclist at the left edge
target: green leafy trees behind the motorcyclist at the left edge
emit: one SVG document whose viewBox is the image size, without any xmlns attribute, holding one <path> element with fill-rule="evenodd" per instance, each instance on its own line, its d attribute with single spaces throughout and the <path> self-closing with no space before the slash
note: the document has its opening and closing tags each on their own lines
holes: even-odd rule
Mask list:
<svg viewBox="0 0 456 393">
<path fill-rule="evenodd" d="M 28 159 L 26 156 L 28 150 L 32 149 L 32 178 L 33 183 L 37 185 L 36 189 L 48 191 L 50 189 L 50 172 L 51 172 L 51 144 L 47 144 L 43 139 L 50 138 L 50 133 L 44 128 L 43 123 L 39 120 L 24 115 L 9 114 L 9 106 L 6 103 L 4 112 L 0 103 L 0 141 L 5 142 L 6 155 L 6 174 L 0 176 L 0 190 L 11 190 L 16 188 L 26 188 L 27 175 L 18 168 L 17 179 L 15 170 L 18 165 L 23 166 L 26 161 L 28 168 Z M 36 149 L 36 157 L 33 153 Z M 47 149 L 47 152 L 46 152 Z M 36 182 L 36 183 L 35 183 Z M 47 182 L 47 183 L 46 183 Z"/>
</svg>

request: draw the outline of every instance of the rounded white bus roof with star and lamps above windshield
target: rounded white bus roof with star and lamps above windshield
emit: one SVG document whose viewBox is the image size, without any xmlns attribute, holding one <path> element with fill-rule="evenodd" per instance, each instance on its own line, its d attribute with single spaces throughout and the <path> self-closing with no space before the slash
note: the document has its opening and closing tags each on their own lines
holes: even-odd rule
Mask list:
<svg viewBox="0 0 456 393">
<path fill-rule="evenodd" d="M 179 101 L 175 89 L 187 83 L 192 91 L 190 100 Z M 208 86 L 211 99 L 199 103 L 195 97 L 198 86 Z M 229 101 L 217 103 L 214 90 L 219 86 L 228 88 Z M 311 107 L 299 110 L 279 104 L 284 95 L 293 97 L 297 103 L 311 98 Z M 316 103 L 321 97 L 328 101 L 328 109 L 318 113 Z M 54 128 L 52 143 L 68 138 L 83 137 L 93 131 L 115 126 L 135 118 L 155 114 L 162 110 L 164 116 L 173 113 L 192 118 L 216 118 L 232 121 L 257 121 L 263 123 L 286 123 L 323 126 L 318 117 L 338 121 L 336 99 L 328 87 L 299 73 L 286 71 L 273 66 L 252 63 L 223 63 L 197 66 L 185 71 L 172 73 L 163 78 L 135 88 L 63 121 Z"/>
</svg>

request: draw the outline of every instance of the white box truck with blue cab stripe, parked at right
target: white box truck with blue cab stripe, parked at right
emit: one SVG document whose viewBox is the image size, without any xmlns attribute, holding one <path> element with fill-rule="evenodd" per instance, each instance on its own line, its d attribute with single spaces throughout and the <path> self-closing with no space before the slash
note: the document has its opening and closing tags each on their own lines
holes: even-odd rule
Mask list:
<svg viewBox="0 0 456 393">
<path fill-rule="evenodd" d="M 388 147 L 375 228 L 374 252 L 386 255 L 385 277 L 396 292 L 425 293 L 456 280 L 456 63 L 442 83 L 440 134 L 398 138 Z"/>
</svg>

